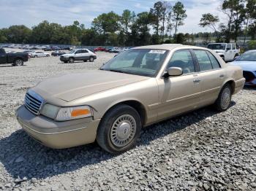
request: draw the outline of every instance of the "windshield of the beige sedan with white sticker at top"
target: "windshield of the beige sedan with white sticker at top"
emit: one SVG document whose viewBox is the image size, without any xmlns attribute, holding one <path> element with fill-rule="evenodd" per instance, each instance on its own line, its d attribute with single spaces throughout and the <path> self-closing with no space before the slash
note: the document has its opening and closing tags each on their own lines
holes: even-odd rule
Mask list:
<svg viewBox="0 0 256 191">
<path fill-rule="evenodd" d="M 154 77 L 165 61 L 167 53 L 167 50 L 127 50 L 108 61 L 100 69 Z"/>
</svg>

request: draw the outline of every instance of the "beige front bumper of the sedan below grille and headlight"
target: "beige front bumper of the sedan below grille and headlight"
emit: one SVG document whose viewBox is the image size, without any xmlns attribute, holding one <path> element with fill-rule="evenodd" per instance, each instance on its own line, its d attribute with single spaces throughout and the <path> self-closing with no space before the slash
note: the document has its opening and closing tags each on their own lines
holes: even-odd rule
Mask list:
<svg viewBox="0 0 256 191">
<path fill-rule="evenodd" d="M 32 114 L 24 105 L 17 109 L 16 117 L 29 136 L 54 149 L 64 149 L 94 142 L 100 121 L 89 117 L 56 122 L 48 117 Z"/>
</svg>

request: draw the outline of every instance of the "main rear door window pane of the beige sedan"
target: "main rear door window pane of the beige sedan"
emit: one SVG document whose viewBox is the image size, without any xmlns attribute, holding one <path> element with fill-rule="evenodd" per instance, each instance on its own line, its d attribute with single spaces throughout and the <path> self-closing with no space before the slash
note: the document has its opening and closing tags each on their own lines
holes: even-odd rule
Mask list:
<svg viewBox="0 0 256 191">
<path fill-rule="evenodd" d="M 197 61 L 200 67 L 200 71 L 211 70 L 211 61 L 205 50 L 194 50 L 197 57 Z"/>
</svg>

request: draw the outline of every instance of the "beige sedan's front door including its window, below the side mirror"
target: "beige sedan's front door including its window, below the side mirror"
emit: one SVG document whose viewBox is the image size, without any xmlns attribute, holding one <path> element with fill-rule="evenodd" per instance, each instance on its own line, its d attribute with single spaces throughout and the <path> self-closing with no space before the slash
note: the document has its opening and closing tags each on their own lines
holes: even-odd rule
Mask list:
<svg viewBox="0 0 256 191">
<path fill-rule="evenodd" d="M 159 120 L 196 109 L 200 103 L 201 79 L 190 50 L 174 52 L 170 67 L 180 67 L 183 74 L 159 79 Z"/>
</svg>

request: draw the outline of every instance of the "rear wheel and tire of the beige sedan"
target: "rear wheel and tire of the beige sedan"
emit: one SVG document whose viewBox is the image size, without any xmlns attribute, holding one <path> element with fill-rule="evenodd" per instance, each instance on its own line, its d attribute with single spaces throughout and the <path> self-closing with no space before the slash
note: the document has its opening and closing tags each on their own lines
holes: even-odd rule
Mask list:
<svg viewBox="0 0 256 191">
<path fill-rule="evenodd" d="M 232 98 L 232 89 L 229 84 L 224 85 L 219 93 L 217 100 L 214 103 L 215 109 L 219 112 L 224 112 L 230 106 L 230 101 Z"/>
</svg>

